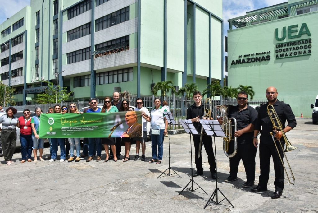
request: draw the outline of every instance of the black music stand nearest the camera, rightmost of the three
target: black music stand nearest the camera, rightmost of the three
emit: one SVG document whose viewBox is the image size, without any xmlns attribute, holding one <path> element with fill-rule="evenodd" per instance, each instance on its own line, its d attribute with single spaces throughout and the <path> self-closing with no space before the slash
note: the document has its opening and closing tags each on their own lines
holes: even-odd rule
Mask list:
<svg viewBox="0 0 318 213">
<path fill-rule="evenodd" d="M 202 125 L 203 129 L 205 130 L 207 135 L 213 136 L 214 137 L 214 152 L 215 152 L 215 171 L 216 171 L 216 188 L 214 189 L 211 197 L 209 198 L 208 202 L 205 204 L 204 209 L 207 207 L 207 205 L 210 202 L 214 202 L 215 204 L 219 204 L 225 199 L 227 202 L 231 204 L 231 206 L 234 208 L 232 203 L 225 197 L 225 195 L 221 192 L 220 188 L 218 188 L 218 167 L 217 167 L 217 151 L 215 147 L 215 137 L 226 137 L 224 134 L 224 131 L 218 122 L 218 120 L 200 120 L 200 124 Z M 218 191 L 224 196 L 223 200 L 220 202 L 218 201 Z M 214 201 L 214 197 L 216 198 L 216 201 Z"/>
</svg>

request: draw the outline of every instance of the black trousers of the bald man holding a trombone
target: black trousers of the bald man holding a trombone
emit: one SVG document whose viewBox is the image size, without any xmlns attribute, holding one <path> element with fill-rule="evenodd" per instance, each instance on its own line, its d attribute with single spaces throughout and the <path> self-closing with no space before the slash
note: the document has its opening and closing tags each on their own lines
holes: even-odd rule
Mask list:
<svg viewBox="0 0 318 213">
<path fill-rule="evenodd" d="M 277 147 L 279 148 L 280 156 L 283 159 L 284 157 L 283 150 L 281 149 L 278 143 L 276 144 L 277 144 Z M 259 143 L 260 175 L 259 175 L 258 185 L 264 188 L 267 187 L 267 182 L 269 178 L 269 164 L 270 164 L 271 156 L 273 157 L 273 163 L 274 163 L 275 190 L 282 192 L 284 189 L 284 180 L 285 180 L 284 167 L 280 161 L 280 158 L 278 156 L 278 152 L 274 143 L 272 144 L 265 144 L 262 142 Z"/>
</svg>

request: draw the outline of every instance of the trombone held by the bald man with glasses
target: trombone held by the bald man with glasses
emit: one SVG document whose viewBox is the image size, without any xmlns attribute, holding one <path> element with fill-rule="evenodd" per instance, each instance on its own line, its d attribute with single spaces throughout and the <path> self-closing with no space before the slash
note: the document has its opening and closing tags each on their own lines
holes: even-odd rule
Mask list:
<svg viewBox="0 0 318 213">
<path fill-rule="evenodd" d="M 286 156 L 285 152 L 293 151 L 294 149 L 297 149 L 297 147 L 291 145 L 291 143 L 290 143 L 289 140 L 287 139 L 286 134 L 285 134 L 285 132 L 283 131 L 282 124 L 280 123 L 280 119 L 279 119 L 279 117 L 278 117 L 278 115 L 277 115 L 277 113 L 276 113 L 276 111 L 275 111 L 273 105 L 268 104 L 268 106 L 267 106 L 267 114 L 268 114 L 269 118 L 270 118 L 271 121 L 272 121 L 273 130 L 275 130 L 275 131 L 281 131 L 281 133 L 283 134 L 282 137 L 283 137 L 284 140 L 285 140 L 285 149 L 284 149 L 284 147 L 281 145 L 280 140 L 277 139 L 277 138 L 274 138 L 273 132 L 270 132 L 270 134 L 271 134 L 271 136 L 272 136 L 272 138 L 273 138 L 275 147 L 276 147 L 276 149 L 277 149 L 278 156 L 279 156 L 279 158 L 280 158 L 280 161 L 281 161 L 281 163 L 282 163 L 282 165 L 283 165 L 283 167 L 284 167 L 285 173 L 286 173 L 286 175 L 287 175 L 288 182 L 289 182 L 290 184 L 293 184 L 293 185 L 294 185 L 294 183 L 295 183 L 295 177 L 294 177 L 292 168 L 291 168 L 290 165 L 289 165 L 289 162 L 288 162 L 288 159 L 287 159 L 287 156 Z M 289 168 L 289 170 L 290 170 L 291 178 L 293 179 L 293 181 L 291 181 L 290 178 L 289 178 L 289 175 L 288 175 L 287 170 L 286 170 L 286 167 L 285 167 L 285 165 L 284 165 L 284 161 L 283 161 L 283 159 L 281 158 L 280 151 L 279 151 L 279 147 L 277 146 L 276 141 L 280 144 L 280 147 L 281 147 L 281 149 L 283 150 L 283 153 L 284 153 L 284 156 L 285 156 L 285 159 L 286 159 L 288 168 Z"/>
</svg>

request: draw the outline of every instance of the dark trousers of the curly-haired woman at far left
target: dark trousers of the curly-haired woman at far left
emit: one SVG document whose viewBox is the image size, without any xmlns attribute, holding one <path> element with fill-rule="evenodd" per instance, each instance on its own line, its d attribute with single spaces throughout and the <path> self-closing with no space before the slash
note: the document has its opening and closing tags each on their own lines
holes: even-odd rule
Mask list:
<svg viewBox="0 0 318 213">
<path fill-rule="evenodd" d="M 12 159 L 17 144 L 16 129 L 3 129 L 1 131 L 1 144 L 3 150 L 3 157 L 5 161 Z"/>
</svg>

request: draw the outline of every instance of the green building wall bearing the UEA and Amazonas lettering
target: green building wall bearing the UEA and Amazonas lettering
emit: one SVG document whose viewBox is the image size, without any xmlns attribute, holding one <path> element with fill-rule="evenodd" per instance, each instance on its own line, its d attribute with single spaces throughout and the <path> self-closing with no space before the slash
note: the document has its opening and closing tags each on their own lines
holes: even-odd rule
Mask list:
<svg viewBox="0 0 318 213">
<path fill-rule="evenodd" d="M 251 85 L 254 99 L 267 87 L 295 114 L 311 117 L 318 95 L 317 1 L 288 1 L 229 19 L 228 84 Z"/>
</svg>

